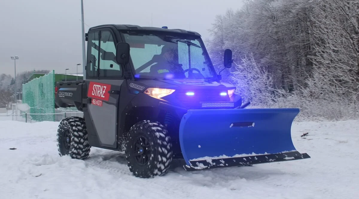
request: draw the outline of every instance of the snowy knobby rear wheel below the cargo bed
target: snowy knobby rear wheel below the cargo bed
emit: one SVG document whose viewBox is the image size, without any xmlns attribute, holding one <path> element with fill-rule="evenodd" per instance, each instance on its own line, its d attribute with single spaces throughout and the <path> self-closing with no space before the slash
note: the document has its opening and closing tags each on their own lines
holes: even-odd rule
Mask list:
<svg viewBox="0 0 359 199">
<path fill-rule="evenodd" d="M 62 119 L 57 129 L 57 150 L 60 156 L 69 155 L 83 160 L 89 156 L 85 120 L 80 117 Z"/>
</svg>

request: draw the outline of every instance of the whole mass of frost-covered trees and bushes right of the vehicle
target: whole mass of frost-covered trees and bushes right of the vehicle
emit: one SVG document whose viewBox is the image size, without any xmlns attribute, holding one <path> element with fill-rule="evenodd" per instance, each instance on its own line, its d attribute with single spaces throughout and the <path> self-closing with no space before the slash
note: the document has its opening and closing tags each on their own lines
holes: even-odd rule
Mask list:
<svg viewBox="0 0 359 199">
<path fill-rule="evenodd" d="M 219 71 L 232 49 L 236 65 L 223 81 L 256 106 L 358 117 L 358 24 L 359 0 L 246 0 L 216 17 L 209 53 Z"/>
</svg>

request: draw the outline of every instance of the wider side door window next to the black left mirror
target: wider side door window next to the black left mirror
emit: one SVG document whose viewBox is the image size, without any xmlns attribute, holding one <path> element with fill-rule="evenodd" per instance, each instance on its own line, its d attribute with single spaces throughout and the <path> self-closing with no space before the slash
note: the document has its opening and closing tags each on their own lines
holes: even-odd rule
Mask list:
<svg viewBox="0 0 359 199">
<path fill-rule="evenodd" d="M 109 31 L 101 31 L 99 77 L 122 77 L 121 66 L 116 63 L 116 45 Z"/>
</svg>

